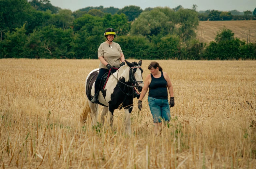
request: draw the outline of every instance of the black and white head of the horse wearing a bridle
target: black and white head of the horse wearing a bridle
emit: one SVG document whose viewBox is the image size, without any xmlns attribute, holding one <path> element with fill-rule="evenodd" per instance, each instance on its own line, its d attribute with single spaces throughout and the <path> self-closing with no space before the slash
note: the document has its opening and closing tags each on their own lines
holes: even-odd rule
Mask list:
<svg viewBox="0 0 256 169">
<path fill-rule="evenodd" d="M 142 60 L 140 60 L 139 63 L 137 62 L 130 63 L 127 60 L 125 60 L 125 62 L 130 67 L 129 78 L 131 83 L 135 85 L 135 87 L 138 89 L 139 92 L 141 92 L 144 86 L 143 79 L 142 79 L 143 70 L 141 68 Z"/>
</svg>

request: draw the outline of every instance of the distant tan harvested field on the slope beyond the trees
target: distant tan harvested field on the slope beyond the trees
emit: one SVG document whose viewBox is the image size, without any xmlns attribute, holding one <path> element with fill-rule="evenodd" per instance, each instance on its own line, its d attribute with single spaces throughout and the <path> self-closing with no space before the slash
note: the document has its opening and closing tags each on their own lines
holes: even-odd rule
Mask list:
<svg viewBox="0 0 256 169">
<path fill-rule="evenodd" d="M 214 41 L 215 34 L 220 27 L 226 26 L 235 33 L 235 37 L 247 41 L 247 35 L 250 42 L 256 41 L 256 20 L 230 20 L 230 21 L 200 21 L 198 27 L 198 36 L 204 42 Z M 249 41 L 249 40 L 248 40 Z"/>
</svg>

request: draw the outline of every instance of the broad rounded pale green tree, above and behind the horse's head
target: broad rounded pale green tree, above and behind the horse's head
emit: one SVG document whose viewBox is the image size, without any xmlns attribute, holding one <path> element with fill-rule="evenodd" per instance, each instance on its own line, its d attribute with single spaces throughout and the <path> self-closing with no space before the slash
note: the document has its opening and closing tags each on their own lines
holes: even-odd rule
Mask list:
<svg viewBox="0 0 256 169">
<path fill-rule="evenodd" d="M 165 35 L 171 31 L 172 23 L 169 18 L 158 9 L 142 12 L 131 26 L 131 34 L 141 34 L 143 36 Z"/>
</svg>

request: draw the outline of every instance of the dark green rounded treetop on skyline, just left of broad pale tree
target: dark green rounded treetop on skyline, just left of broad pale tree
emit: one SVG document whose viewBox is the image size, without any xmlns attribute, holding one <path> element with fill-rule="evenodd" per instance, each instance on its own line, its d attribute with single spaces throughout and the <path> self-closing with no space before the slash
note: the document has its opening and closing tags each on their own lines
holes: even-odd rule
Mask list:
<svg viewBox="0 0 256 169">
<path fill-rule="evenodd" d="M 132 21 L 135 18 L 138 18 L 138 16 L 143 12 L 141 7 L 139 6 L 125 6 L 124 8 L 120 9 L 117 13 L 121 14 L 124 13 L 126 16 L 128 16 L 128 21 Z"/>
</svg>

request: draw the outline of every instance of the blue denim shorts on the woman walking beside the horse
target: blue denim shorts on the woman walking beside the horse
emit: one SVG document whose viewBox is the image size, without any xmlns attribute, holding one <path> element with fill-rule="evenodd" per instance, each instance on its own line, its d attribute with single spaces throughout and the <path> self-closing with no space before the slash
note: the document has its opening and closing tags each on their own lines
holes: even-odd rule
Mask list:
<svg viewBox="0 0 256 169">
<path fill-rule="evenodd" d="M 160 123 L 162 119 L 170 121 L 171 112 L 168 99 L 158 99 L 148 97 L 148 105 L 153 116 L 154 123 Z"/>
</svg>

